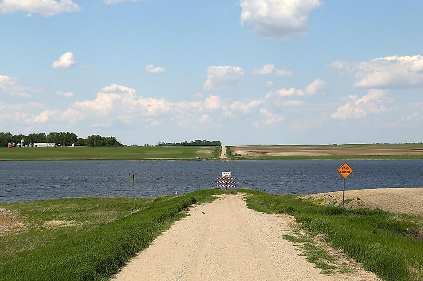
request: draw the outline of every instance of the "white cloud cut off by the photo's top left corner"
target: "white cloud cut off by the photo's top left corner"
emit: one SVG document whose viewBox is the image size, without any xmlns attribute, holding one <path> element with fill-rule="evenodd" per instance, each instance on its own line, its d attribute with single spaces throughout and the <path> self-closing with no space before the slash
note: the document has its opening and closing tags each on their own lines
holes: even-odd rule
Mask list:
<svg viewBox="0 0 423 281">
<path fill-rule="evenodd" d="M 2 13 L 24 11 L 28 12 L 29 16 L 32 13 L 52 16 L 62 12 L 79 10 L 81 10 L 81 7 L 72 0 L 3 0 L 0 2 L 0 12 Z"/>
</svg>

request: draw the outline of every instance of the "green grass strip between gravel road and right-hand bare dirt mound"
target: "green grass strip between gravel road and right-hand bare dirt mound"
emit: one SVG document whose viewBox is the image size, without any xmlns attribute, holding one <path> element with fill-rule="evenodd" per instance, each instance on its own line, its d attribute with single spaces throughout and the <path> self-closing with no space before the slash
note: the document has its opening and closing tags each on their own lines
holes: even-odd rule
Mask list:
<svg viewBox="0 0 423 281">
<path fill-rule="evenodd" d="M 294 216 L 309 235 L 325 234 L 334 249 L 342 250 L 384 280 L 423 280 L 423 240 L 413 238 L 422 230 L 419 216 L 313 206 L 296 196 L 238 191 L 253 195 L 246 199 L 249 208 Z"/>
</svg>

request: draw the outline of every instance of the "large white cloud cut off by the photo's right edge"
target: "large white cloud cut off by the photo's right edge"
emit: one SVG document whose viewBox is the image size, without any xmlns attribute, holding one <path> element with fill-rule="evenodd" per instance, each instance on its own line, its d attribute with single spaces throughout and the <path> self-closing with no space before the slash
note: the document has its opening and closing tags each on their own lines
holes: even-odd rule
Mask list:
<svg viewBox="0 0 423 281">
<path fill-rule="evenodd" d="M 334 61 L 329 67 L 355 73 L 355 87 L 401 88 L 423 85 L 423 56 L 385 56 L 358 64 Z"/>
</svg>

